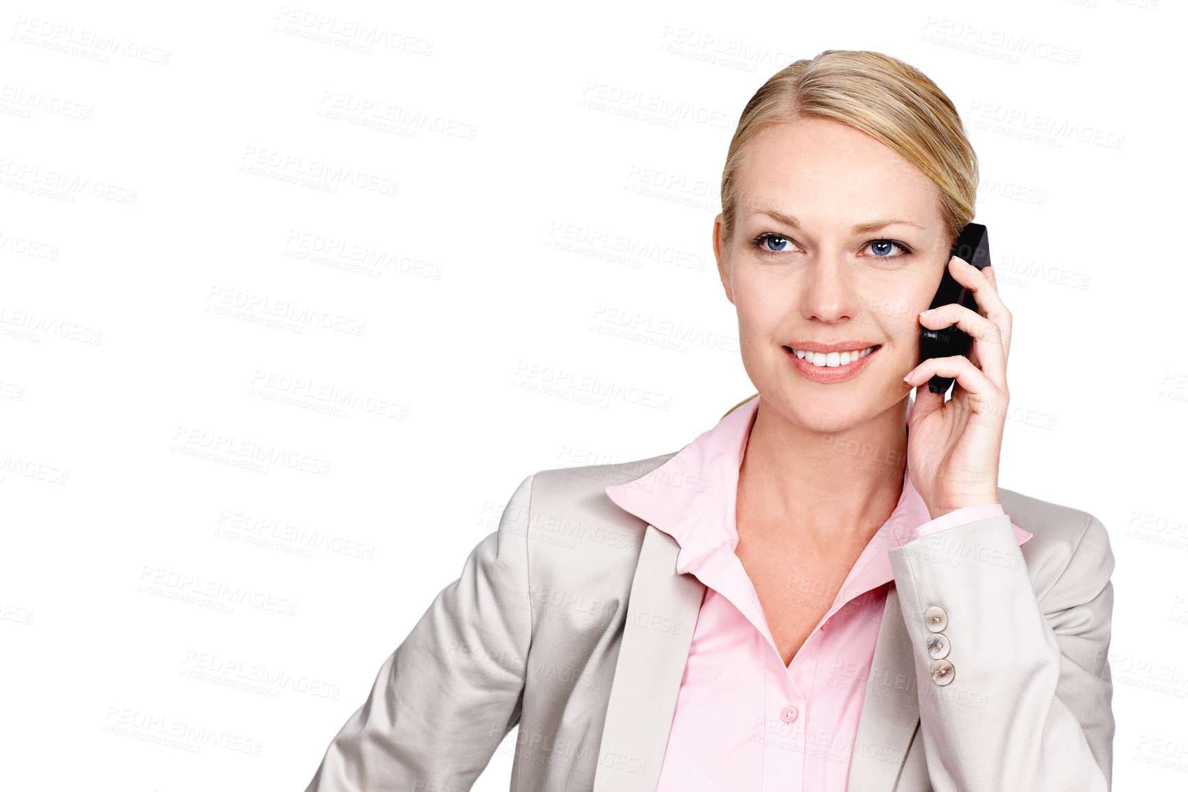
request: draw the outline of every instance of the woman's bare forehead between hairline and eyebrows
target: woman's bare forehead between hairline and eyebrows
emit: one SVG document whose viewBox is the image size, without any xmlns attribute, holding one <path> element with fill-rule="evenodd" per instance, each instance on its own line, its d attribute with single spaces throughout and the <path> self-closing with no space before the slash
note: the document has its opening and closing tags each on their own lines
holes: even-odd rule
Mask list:
<svg viewBox="0 0 1188 792">
<path fill-rule="evenodd" d="M 828 119 L 773 124 L 748 140 L 735 175 L 740 219 L 775 208 L 861 222 L 898 210 L 940 224 L 940 190 L 865 132 Z"/>
</svg>

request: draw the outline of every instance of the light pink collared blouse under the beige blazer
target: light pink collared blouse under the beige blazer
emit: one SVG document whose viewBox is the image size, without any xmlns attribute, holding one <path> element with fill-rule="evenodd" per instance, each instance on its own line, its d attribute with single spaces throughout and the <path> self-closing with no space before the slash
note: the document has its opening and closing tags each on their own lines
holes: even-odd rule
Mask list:
<svg viewBox="0 0 1188 792">
<path fill-rule="evenodd" d="M 739 467 L 758 407 L 756 396 L 651 473 L 606 488 L 623 509 L 671 535 L 681 546 L 676 571 L 706 585 L 658 792 L 845 792 L 886 592 L 895 585 L 886 551 L 1003 514 L 998 504 L 979 505 L 929 520 L 905 471 L 891 516 L 785 667 L 734 554 Z M 1012 527 L 1020 545 L 1031 538 Z M 813 580 L 791 583 L 816 593 Z"/>
</svg>

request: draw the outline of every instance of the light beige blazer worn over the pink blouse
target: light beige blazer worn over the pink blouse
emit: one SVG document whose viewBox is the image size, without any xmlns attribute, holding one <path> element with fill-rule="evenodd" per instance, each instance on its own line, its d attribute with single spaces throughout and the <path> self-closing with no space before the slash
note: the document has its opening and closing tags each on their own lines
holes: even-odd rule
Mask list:
<svg viewBox="0 0 1188 792">
<path fill-rule="evenodd" d="M 674 453 L 525 478 L 380 667 L 308 792 L 469 790 L 516 724 L 513 791 L 653 792 L 704 585 L 676 573 L 671 536 L 604 488 Z M 848 790 L 1110 788 L 1106 529 L 999 496 L 1005 516 L 889 551 L 895 584 Z M 1034 534 L 1023 546 L 1012 521 Z M 952 641 L 943 686 L 930 606 Z"/>
</svg>

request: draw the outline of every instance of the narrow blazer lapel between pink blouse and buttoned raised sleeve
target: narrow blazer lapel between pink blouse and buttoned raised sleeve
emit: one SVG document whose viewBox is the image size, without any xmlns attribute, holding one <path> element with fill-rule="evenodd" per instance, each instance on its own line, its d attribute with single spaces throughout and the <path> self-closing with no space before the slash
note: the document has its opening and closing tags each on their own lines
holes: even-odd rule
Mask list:
<svg viewBox="0 0 1188 792">
<path fill-rule="evenodd" d="M 899 595 L 887 589 L 871 675 L 849 759 L 847 792 L 891 792 L 920 724 L 916 667 Z"/>
</svg>

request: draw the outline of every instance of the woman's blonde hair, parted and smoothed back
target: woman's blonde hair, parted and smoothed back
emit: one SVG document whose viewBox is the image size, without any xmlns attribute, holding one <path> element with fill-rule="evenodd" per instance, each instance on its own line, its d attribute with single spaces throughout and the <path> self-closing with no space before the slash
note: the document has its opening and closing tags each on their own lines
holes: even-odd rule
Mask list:
<svg viewBox="0 0 1188 792">
<path fill-rule="evenodd" d="M 804 117 L 865 132 L 927 176 L 940 190 L 950 241 L 973 219 L 978 156 L 944 92 L 890 55 L 824 50 L 773 74 L 742 109 L 722 171 L 722 244 L 734 232 L 734 181 L 744 145 L 773 124 Z"/>
</svg>

